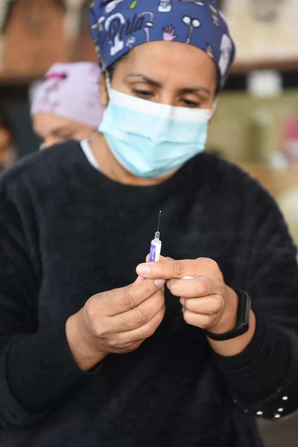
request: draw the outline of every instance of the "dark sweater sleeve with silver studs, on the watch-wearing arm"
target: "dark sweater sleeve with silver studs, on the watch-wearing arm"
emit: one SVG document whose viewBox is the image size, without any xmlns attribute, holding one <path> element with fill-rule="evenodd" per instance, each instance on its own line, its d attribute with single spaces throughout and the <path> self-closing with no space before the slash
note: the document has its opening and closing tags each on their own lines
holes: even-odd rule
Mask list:
<svg viewBox="0 0 298 447">
<path fill-rule="evenodd" d="M 250 249 L 241 286 L 252 298 L 256 334 L 238 358 L 217 358 L 217 363 L 235 405 L 278 420 L 298 408 L 297 249 L 276 202 L 253 186 Z"/>
</svg>

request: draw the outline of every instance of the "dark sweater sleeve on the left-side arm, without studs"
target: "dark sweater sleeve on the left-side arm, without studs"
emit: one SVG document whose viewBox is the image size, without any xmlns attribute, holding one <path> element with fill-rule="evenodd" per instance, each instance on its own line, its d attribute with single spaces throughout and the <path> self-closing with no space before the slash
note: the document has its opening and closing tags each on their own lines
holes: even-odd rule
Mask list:
<svg viewBox="0 0 298 447">
<path fill-rule="evenodd" d="M 38 330 L 38 231 L 25 188 L 0 184 L 0 427 L 38 422 L 84 373 L 74 362 L 65 321 Z M 16 194 L 15 188 L 18 193 Z M 26 216 L 21 217 L 21 208 Z M 31 211 L 30 211 L 31 210 Z M 30 223 L 29 223 L 30 221 Z M 92 374 L 92 373 L 90 373 Z"/>
</svg>

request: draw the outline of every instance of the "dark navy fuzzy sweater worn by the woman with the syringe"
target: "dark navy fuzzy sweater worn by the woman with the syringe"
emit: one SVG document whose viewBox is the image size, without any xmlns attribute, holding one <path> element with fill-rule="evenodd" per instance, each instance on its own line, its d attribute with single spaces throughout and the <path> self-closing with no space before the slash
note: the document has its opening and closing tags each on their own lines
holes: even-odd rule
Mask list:
<svg viewBox="0 0 298 447">
<path fill-rule="evenodd" d="M 210 257 L 251 295 L 252 343 L 214 354 L 167 292 L 151 338 L 83 372 L 65 321 L 134 281 L 160 209 L 163 255 Z M 298 407 L 296 249 L 274 200 L 226 161 L 204 153 L 161 185 L 127 186 L 69 141 L 1 178 L 0 334 L 1 447 L 261 446 L 256 415 Z"/>
</svg>

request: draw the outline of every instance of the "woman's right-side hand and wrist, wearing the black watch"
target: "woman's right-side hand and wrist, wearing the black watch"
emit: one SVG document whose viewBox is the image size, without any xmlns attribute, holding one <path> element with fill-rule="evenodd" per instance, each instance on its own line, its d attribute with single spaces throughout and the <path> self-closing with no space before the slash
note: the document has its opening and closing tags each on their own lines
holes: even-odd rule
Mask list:
<svg viewBox="0 0 298 447">
<path fill-rule="evenodd" d="M 238 296 L 225 284 L 222 272 L 212 259 L 174 261 L 163 258 L 159 262 L 140 264 L 137 273 L 143 278 L 167 279 L 172 294 L 180 297 L 183 317 L 189 325 L 211 333 L 226 333 L 235 328 Z M 185 277 L 189 279 L 183 279 Z M 251 342 L 255 324 L 251 311 L 248 333 L 223 342 L 208 339 L 210 345 L 224 356 L 239 354 Z"/>
</svg>

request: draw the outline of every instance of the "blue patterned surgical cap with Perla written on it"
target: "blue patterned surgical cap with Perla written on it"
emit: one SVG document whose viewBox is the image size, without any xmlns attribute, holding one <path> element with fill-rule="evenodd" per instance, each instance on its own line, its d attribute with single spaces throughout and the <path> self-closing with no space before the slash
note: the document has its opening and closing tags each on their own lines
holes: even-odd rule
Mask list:
<svg viewBox="0 0 298 447">
<path fill-rule="evenodd" d="M 235 56 L 227 22 L 214 0 L 95 0 L 90 28 L 102 71 L 142 43 L 185 42 L 214 60 L 222 89 Z"/>
</svg>

